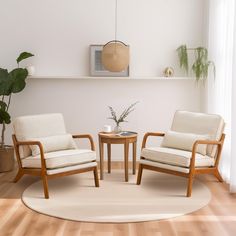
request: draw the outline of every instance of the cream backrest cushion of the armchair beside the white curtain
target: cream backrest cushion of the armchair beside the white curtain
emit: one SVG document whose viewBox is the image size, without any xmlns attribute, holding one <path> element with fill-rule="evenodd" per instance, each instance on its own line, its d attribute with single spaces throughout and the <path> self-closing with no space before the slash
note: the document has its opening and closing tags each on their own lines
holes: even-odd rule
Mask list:
<svg viewBox="0 0 236 236">
<path fill-rule="evenodd" d="M 215 114 L 176 111 L 171 126 L 172 131 L 208 135 L 211 140 L 219 141 L 224 131 L 224 120 Z M 206 154 L 215 157 L 217 147 L 208 145 Z"/>
</svg>

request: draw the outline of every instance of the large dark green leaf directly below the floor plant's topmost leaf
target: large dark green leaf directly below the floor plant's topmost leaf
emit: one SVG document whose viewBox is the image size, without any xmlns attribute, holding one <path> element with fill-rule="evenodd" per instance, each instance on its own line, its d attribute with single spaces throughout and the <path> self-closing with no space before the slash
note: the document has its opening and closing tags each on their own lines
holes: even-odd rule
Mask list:
<svg viewBox="0 0 236 236">
<path fill-rule="evenodd" d="M 22 68 L 16 68 L 9 73 L 9 78 L 12 81 L 11 92 L 19 93 L 25 88 L 25 79 L 28 76 L 28 71 Z"/>
</svg>

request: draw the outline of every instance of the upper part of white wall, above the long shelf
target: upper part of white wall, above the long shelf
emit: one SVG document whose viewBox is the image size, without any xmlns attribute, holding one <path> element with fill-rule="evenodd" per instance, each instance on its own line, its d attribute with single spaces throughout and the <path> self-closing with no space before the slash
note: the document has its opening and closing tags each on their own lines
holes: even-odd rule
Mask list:
<svg viewBox="0 0 236 236">
<path fill-rule="evenodd" d="M 21 51 L 40 75 L 88 75 L 89 45 L 114 39 L 115 0 L 1 0 L 0 65 Z M 179 74 L 175 49 L 204 41 L 204 0 L 118 0 L 118 38 L 131 47 L 133 76 Z"/>
</svg>

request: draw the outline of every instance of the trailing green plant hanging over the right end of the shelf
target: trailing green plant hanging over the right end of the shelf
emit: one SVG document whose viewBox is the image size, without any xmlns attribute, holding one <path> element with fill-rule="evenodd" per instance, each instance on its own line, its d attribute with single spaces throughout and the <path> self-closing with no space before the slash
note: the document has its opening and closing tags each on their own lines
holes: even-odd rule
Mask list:
<svg viewBox="0 0 236 236">
<path fill-rule="evenodd" d="M 213 67 L 215 78 L 215 64 L 213 61 L 208 60 L 208 50 L 205 47 L 187 48 L 186 45 L 181 45 L 177 48 L 180 68 L 183 68 L 186 73 L 189 73 L 189 59 L 188 51 L 194 52 L 194 62 L 192 64 L 192 71 L 196 77 L 197 82 L 199 80 L 205 81 L 208 78 L 209 67 Z"/>
</svg>

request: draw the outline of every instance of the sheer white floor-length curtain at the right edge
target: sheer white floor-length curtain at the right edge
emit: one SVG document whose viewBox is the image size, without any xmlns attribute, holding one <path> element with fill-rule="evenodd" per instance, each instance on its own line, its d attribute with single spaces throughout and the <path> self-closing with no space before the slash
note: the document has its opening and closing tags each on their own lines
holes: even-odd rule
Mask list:
<svg viewBox="0 0 236 236">
<path fill-rule="evenodd" d="M 216 79 L 207 83 L 207 112 L 222 115 L 226 140 L 220 172 L 236 192 L 236 3 L 235 0 L 209 0 L 208 49 L 215 62 Z"/>
</svg>

